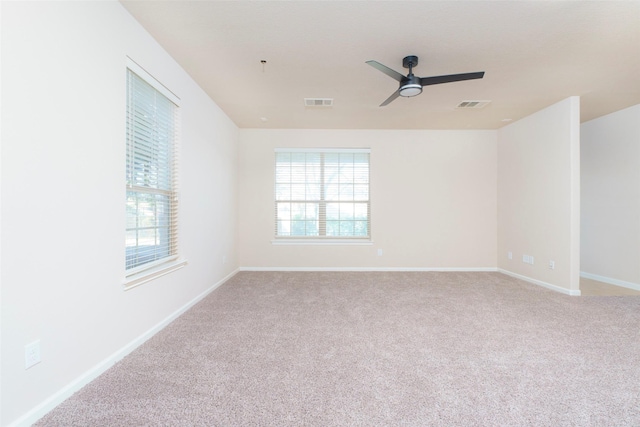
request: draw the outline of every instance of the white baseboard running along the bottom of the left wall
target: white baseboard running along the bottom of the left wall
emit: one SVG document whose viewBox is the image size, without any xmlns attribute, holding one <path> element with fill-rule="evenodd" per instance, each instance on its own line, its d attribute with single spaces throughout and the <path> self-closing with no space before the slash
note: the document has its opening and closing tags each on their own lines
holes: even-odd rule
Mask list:
<svg viewBox="0 0 640 427">
<path fill-rule="evenodd" d="M 8 427 L 27 427 L 32 425 L 36 421 L 38 421 L 40 418 L 44 417 L 49 411 L 51 411 L 56 406 L 61 404 L 63 401 L 71 397 L 71 395 L 73 395 L 76 391 L 80 390 L 82 387 L 89 384 L 91 381 L 93 381 L 98 376 L 103 374 L 107 369 L 111 368 L 118 361 L 120 361 L 129 353 L 134 351 L 136 348 L 142 345 L 149 338 L 151 338 L 152 336 L 160 332 L 165 326 L 173 322 L 185 311 L 187 311 L 188 309 L 193 307 L 195 304 L 200 302 L 200 300 L 202 300 L 204 297 L 209 295 L 213 290 L 215 290 L 220 285 L 225 283 L 227 280 L 235 276 L 236 273 L 238 273 L 238 271 L 239 270 L 236 269 L 230 274 L 228 274 L 222 280 L 218 281 L 209 289 L 202 292 L 200 295 L 196 296 L 191 301 L 189 301 L 188 303 L 186 303 L 185 305 L 183 305 L 182 307 L 180 307 L 179 309 L 171 313 L 169 316 L 167 316 L 165 319 L 157 323 L 155 326 L 153 326 L 151 329 L 149 329 L 142 335 L 140 335 L 138 338 L 131 341 L 129 344 L 127 344 L 120 350 L 116 351 L 114 354 L 112 354 L 102 362 L 98 363 L 96 366 L 89 369 L 84 374 L 80 375 L 80 377 L 78 377 L 77 379 L 75 379 L 74 381 L 66 385 L 64 388 L 56 392 L 53 396 L 47 398 L 45 401 L 40 403 L 38 406 L 30 410 L 29 412 L 27 412 L 25 415 L 23 415 L 22 417 L 18 418 L 17 420 L 9 424 Z"/>
</svg>

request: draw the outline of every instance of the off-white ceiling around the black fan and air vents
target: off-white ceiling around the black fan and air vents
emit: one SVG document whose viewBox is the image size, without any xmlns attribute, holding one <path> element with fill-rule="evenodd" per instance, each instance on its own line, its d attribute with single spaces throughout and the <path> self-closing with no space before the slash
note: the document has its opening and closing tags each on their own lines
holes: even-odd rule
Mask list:
<svg viewBox="0 0 640 427">
<path fill-rule="evenodd" d="M 640 103 L 640 1 L 121 3 L 241 128 L 497 129 L 571 95 L 582 121 Z M 365 61 L 407 74 L 407 55 L 421 77 L 486 74 L 378 107 L 398 83 Z"/>
</svg>

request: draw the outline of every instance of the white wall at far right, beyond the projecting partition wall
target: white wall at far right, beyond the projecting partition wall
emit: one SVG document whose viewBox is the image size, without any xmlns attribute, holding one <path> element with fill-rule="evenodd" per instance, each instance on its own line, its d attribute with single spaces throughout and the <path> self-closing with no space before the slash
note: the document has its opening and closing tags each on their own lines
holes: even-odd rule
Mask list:
<svg viewBox="0 0 640 427">
<path fill-rule="evenodd" d="M 581 139 L 581 270 L 640 289 L 640 105 L 583 123 Z"/>
</svg>

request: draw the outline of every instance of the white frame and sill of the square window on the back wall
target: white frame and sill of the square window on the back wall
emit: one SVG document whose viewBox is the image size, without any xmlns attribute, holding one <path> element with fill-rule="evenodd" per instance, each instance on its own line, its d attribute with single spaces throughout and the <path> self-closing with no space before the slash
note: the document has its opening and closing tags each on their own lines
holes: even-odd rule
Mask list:
<svg viewBox="0 0 640 427">
<path fill-rule="evenodd" d="M 278 154 L 279 153 L 310 153 L 311 155 L 318 154 L 321 155 L 324 159 L 324 155 L 326 154 L 366 154 L 368 156 L 367 163 L 367 199 L 352 199 L 352 200 L 336 200 L 336 199 L 327 199 L 326 187 L 327 184 L 325 182 L 324 174 L 325 174 L 325 165 L 324 162 L 321 162 L 320 172 L 321 178 L 321 195 L 320 199 L 301 199 L 301 200 L 286 200 L 282 199 L 281 196 L 279 198 L 278 192 L 278 180 L 277 177 L 277 164 L 278 164 Z M 276 148 L 275 149 L 275 161 L 274 161 L 274 239 L 271 241 L 274 245 L 372 245 L 373 241 L 371 239 L 371 180 L 370 180 L 370 169 L 371 169 L 371 149 L 369 148 Z M 351 182 L 351 185 L 354 185 L 354 182 Z M 293 195 L 291 196 L 293 197 Z M 327 236 L 327 204 L 328 203 L 344 203 L 351 202 L 355 204 L 366 204 L 367 216 L 366 216 L 366 227 L 367 233 L 366 235 L 353 235 L 353 236 Z M 319 213 L 318 213 L 318 235 L 314 236 L 295 236 L 295 235 L 279 235 L 279 224 L 278 224 L 278 204 L 279 203 L 318 203 L 319 204 Z M 323 235 L 323 233 L 325 233 Z"/>
</svg>

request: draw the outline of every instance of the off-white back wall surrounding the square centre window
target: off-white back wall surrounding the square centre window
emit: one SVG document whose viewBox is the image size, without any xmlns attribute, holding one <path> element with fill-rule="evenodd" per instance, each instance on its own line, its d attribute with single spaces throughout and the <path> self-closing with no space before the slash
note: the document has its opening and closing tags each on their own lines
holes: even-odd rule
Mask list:
<svg viewBox="0 0 640 427">
<path fill-rule="evenodd" d="M 276 147 L 371 148 L 374 244 L 273 245 Z M 496 266 L 495 131 L 242 129 L 238 185 L 241 267 Z"/>
</svg>

